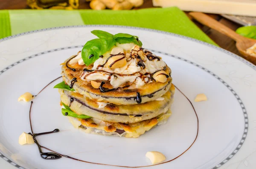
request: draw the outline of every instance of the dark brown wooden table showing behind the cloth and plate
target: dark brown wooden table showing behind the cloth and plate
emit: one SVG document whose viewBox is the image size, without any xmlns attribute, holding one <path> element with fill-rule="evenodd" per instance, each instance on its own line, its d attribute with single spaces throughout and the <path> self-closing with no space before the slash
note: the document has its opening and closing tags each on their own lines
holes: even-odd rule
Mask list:
<svg viewBox="0 0 256 169">
<path fill-rule="evenodd" d="M 152 8 L 152 7 L 153 7 L 152 0 L 144 0 L 143 6 L 140 6 L 139 8 L 136 8 L 136 9 Z M 26 5 L 26 0 L 0 0 L 0 9 L 29 9 L 29 7 Z M 85 2 L 85 0 L 79 0 L 79 9 L 90 9 L 89 3 Z M 188 15 L 188 12 L 186 12 L 186 14 Z M 218 20 L 218 22 L 224 24 L 230 29 L 236 30 L 237 28 L 241 27 L 241 25 L 234 23 L 230 20 L 227 20 L 221 15 L 218 15 L 218 14 L 208 14 L 208 15 L 214 18 L 215 20 Z M 189 18 L 191 19 L 191 17 Z M 221 48 L 224 48 L 230 52 L 233 52 L 241 56 L 241 54 L 236 49 L 236 42 L 232 40 L 230 37 L 227 37 L 221 33 L 218 33 L 215 30 L 210 29 L 209 27 L 204 26 L 201 23 L 198 23 L 197 21 L 193 20 L 193 22 L 204 33 L 206 33 L 213 41 L 215 41 L 215 43 L 217 43 Z"/>
</svg>

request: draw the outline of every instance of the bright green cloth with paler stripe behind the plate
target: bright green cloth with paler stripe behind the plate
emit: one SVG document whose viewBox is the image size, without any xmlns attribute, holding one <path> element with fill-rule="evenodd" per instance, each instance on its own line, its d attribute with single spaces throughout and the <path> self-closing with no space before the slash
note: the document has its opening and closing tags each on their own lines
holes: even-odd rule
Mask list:
<svg viewBox="0 0 256 169">
<path fill-rule="evenodd" d="M 140 10 L 0 10 L 0 38 L 58 26 L 137 26 L 181 34 L 216 45 L 177 7 Z"/>
</svg>

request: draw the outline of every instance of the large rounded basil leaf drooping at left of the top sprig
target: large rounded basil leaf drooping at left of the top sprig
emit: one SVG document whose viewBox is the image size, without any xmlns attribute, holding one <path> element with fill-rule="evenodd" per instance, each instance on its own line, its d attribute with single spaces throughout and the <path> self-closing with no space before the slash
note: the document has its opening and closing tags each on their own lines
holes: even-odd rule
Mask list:
<svg viewBox="0 0 256 169">
<path fill-rule="evenodd" d="M 105 39 L 89 40 L 83 47 L 81 55 L 86 66 L 94 63 L 99 56 L 109 51 L 114 46 L 115 40 L 112 37 Z M 90 57 L 93 54 L 92 57 Z M 90 58 L 89 58 L 90 57 Z"/>
</svg>

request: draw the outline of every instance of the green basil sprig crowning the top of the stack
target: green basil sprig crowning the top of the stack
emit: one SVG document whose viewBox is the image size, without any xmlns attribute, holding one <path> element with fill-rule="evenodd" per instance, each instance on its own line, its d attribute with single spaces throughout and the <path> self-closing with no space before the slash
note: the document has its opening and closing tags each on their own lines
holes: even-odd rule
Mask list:
<svg viewBox="0 0 256 169">
<path fill-rule="evenodd" d="M 131 34 L 118 33 L 113 35 L 101 30 L 94 30 L 91 33 L 99 39 L 89 40 L 82 49 L 82 59 L 87 66 L 99 59 L 99 56 L 108 52 L 116 42 L 121 44 L 134 43 L 140 47 L 142 46 L 138 37 Z"/>
</svg>

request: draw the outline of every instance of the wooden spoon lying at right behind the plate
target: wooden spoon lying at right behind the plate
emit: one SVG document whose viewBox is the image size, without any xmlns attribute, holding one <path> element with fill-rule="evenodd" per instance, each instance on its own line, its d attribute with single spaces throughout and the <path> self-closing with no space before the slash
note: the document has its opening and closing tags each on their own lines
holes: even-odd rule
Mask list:
<svg viewBox="0 0 256 169">
<path fill-rule="evenodd" d="M 228 28 L 227 26 L 222 25 L 217 20 L 215 20 L 201 12 L 189 12 L 189 14 L 193 18 L 195 18 L 195 20 L 202 23 L 203 25 L 206 25 L 222 34 L 227 35 L 228 37 L 232 38 L 233 40 L 235 40 L 236 48 L 244 56 L 244 58 L 256 65 L 256 56 L 252 56 L 252 55 L 246 53 L 246 49 L 250 48 L 251 46 L 253 46 L 256 43 L 255 39 L 243 37 L 240 34 L 237 34 L 232 29 Z"/>
</svg>

